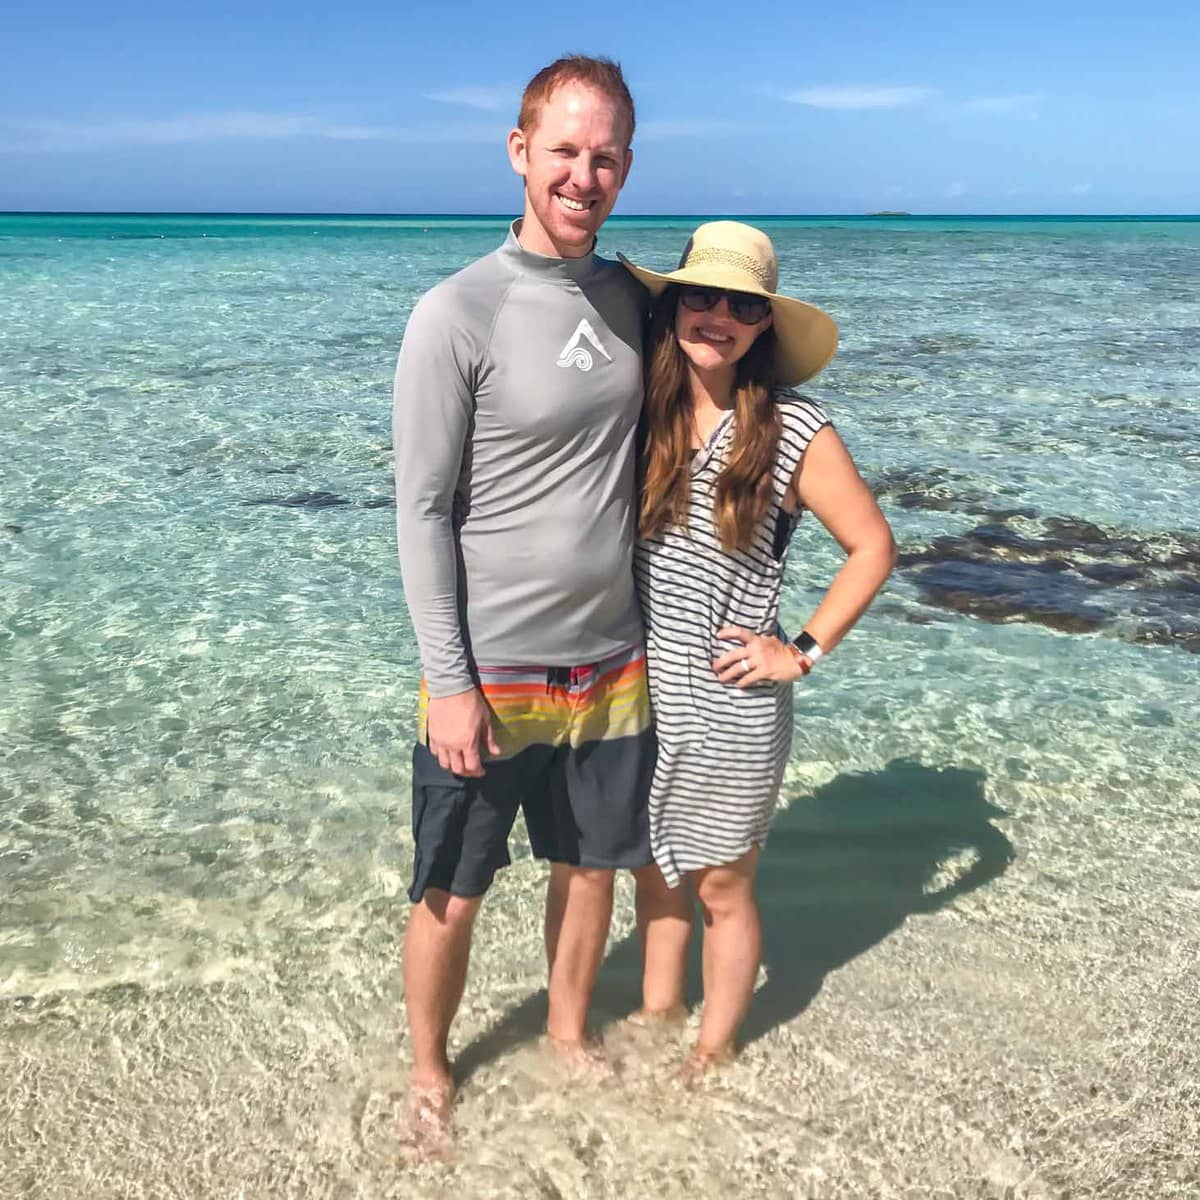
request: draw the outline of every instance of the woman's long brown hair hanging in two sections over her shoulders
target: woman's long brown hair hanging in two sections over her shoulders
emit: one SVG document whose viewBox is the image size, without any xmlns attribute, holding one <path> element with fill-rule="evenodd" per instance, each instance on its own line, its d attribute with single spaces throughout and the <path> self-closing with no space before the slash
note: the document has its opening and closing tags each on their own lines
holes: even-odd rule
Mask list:
<svg viewBox="0 0 1200 1200">
<path fill-rule="evenodd" d="M 677 287 L 667 288 L 650 313 L 638 518 L 643 538 L 688 524 L 692 415 L 688 360 L 674 334 L 678 295 Z M 750 548 L 770 504 L 780 434 L 774 349 L 775 330 L 768 328 L 738 362 L 733 380 L 733 446 L 713 498 L 716 536 L 730 553 Z"/>
</svg>

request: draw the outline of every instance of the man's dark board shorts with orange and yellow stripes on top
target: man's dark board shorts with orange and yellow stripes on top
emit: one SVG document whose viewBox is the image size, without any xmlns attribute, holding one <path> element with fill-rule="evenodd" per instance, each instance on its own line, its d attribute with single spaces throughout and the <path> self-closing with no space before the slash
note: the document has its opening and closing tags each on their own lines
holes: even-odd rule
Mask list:
<svg viewBox="0 0 1200 1200">
<path fill-rule="evenodd" d="M 500 748 L 486 757 L 481 779 L 451 774 L 430 751 L 421 682 L 410 898 L 420 900 L 431 887 L 482 895 L 511 862 L 508 840 L 518 809 L 538 858 L 647 866 L 655 738 L 642 646 L 582 666 L 476 671 Z"/>
</svg>

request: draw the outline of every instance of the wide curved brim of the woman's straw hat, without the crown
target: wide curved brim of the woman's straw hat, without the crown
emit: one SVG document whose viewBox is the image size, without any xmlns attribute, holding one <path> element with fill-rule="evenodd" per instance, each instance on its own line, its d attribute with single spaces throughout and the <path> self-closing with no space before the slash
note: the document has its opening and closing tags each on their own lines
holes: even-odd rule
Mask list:
<svg viewBox="0 0 1200 1200">
<path fill-rule="evenodd" d="M 804 383 L 823 371 L 838 353 L 838 323 L 823 308 L 768 292 L 737 266 L 726 263 L 702 263 L 680 266 L 664 274 L 637 266 L 624 254 L 617 254 L 622 266 L 637 278 L 653 296 L 660 296 L 672 283 L 696 283 L 707 288 L 726 288 L 770 301 L 775 329 L 775 377 L 784 386 Z"/>
</svg>

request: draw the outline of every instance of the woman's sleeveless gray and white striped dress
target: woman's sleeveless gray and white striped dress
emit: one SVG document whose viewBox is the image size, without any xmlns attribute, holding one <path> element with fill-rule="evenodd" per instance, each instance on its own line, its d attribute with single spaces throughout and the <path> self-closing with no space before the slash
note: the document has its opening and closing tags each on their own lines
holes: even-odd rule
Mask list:
<svg viewBox="0 0 1200 1200">
<path fill-rule="evenodd" d="M 774 634 L 787 544 L 797 517 L 784 497 L 800 456 L 828 424 L 791 391 L 776 392 L 782 432 L 772 502 L 749 551 L 721 548 L 713 527 L 716 479 L 733 442 L 722 418 L 691 464 L 686 529 L 641 539 L 635 553 L 646 619 L 659 756 L 650 786 L 650 846 L 666 882 L 732 863 L 767 838 L 792 744 L 792 685 L 722 684 L 713 660 L 737 642 L 722 625 Z"/>
</svg>

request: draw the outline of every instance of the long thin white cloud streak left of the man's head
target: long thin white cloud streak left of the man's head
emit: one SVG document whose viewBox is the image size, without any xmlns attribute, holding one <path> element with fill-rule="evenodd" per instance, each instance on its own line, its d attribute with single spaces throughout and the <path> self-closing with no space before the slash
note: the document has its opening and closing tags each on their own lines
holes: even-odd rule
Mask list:
<svg viewBox="0 0 1200 1200">
<path fill-rule="evenodd" d="M 0 120 L 0 151 L 46 152 L 110 145 L 181 145 L 190 142 L 281 142 L 320 138 L 332 142 L 482 142 L 503 130 L 481 127 L 392 128 L 349 125 L 295 113 L 196 113 L 160 120 L 94 124 Z"/>
</svg>

